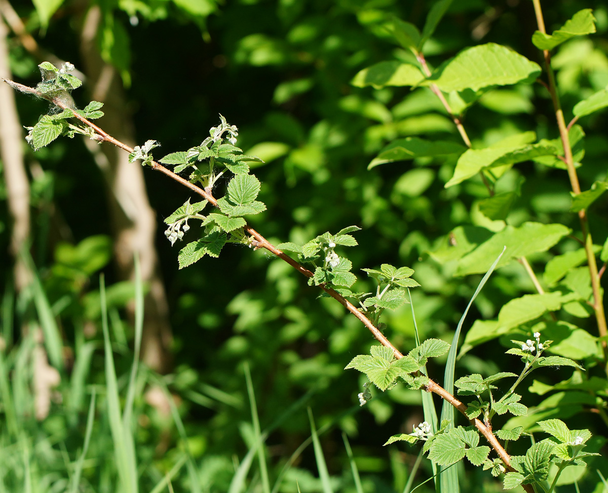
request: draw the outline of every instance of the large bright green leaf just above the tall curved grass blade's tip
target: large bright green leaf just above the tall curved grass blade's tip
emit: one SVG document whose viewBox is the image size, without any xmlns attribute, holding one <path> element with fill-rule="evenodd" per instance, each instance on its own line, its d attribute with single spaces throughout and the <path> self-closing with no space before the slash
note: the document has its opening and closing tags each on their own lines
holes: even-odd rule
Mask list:
<svg viewBox="0 0 608 493">
<path fill-rule="evenodd" d="M 458 262 L 455 275 L 465 276 L 487 272 L 504 246 L 506 246 L 506 251 L 497 268 L 508 264 L 514 258 L 547 251 L 564 236 L 570 234 L 570 231 L 570 228 L 561 224 L 545 225 L 528 222 L 523 223 L 519 228 L 506 226 L 505 229 L 477 246 L 475 250 L 463 256 Z"/>
</svg>

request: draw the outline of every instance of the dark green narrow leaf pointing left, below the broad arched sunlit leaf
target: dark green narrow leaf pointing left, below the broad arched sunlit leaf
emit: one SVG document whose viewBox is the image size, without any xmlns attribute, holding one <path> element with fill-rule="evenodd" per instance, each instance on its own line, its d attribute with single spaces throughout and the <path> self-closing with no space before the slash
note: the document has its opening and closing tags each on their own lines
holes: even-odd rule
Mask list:
<svg viewBox="0 0 608 493">
<path fill-rule="evenodd" d="M 371 160 L 367 169 L 379 164 L 394 163 L 395 161 L 410 161 L 415 158 L 446 156 L 461 154 L 466 150 L 463 145 L 449 141 L 427 141 L 418 137 L 407 137 L 391 142 Z"/>
</svg>

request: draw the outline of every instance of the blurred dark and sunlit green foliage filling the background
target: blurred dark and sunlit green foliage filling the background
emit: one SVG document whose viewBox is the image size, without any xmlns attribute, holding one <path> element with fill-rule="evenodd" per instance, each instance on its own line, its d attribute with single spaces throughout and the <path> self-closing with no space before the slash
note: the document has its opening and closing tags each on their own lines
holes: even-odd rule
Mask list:
<svg viewBox="0 0 608 493">
<path fill-rule="evenodd" d="M 360 268 L 384 262 L 412 267 L 422 286 L 412 292 L 421 336 L 451 341 L 466 302 L 480 281 L 479 274 L 455 276 L 453 260 L 480 242 L 482 228 L 497 231 L 503 223 L 482 214 L 488 194 L 481 180 L 444 187 L 455 165 L 449 159 L 418 158 L 368 170 L 370 161 L 396 138 L 431 136 L 461 142 L 429 89 L 351 84 L 361 69 L 374 63 L 411 60 L 411 55 L 392 41 L 387 21 L 395 15 L 421 27 L 428 2 L 241 0 L 224 5 L 212 0 L 104 0 L 91 4 L 59 2 L 57 10 L 52 3 L 38 1 L 34 8 L 15 2 L 13 7 L 46 51 L 78 68 L 86 64 L 81 60 L 78 33 L 86 10 L 98 5 L 102 22 L 97 46 L 102 58 L 120 73 L 128 100 L 122 110 L 133 119 L 138 144 L 157 139 L 162 153 L 186 149 L 199 144 L 207 129 L 217 124 L 218 113 L 223 114 L 239 127 L 238 145 L 247 154 L 265 160 L 255 173 L 262 181 L 259 200 L 266 203 L 268 211 L 250 218 L 254 228 L 274 243 L 302 244 L 327 230 L 361 226 L 362 231 L 355 235 L 360 246 L 348 252 L 359 278 L 358 289 L 373 290 L 371 279 L 357 271 Z M 554 2 L 545 9 L 551 30 L 587 7 L 594 9 L 598 34 L 563 44 L 553 59 L 566 121 L 572 117 L 576 102 L 608 84 L 608 45 L 604 39 L 608 11 L 602 2 L 580 1 Z M 425 55 L 437 66 L 463 47 L 494 42 L 541 63 L 541 54 L 531 43 L 534 30 L 536 21 L 528 1 L 458 1 L 427 43 Z M 14 77 L 35 85 L 39 77 L 36 65 L 41 60 L 27 52 L 18 37 L 11 34 L 8 42 Z M 88 102 L 84 93 L 75 97 L 78 107 Z M 23 125 L 33 125 L 43 111 L 41 104 L 18 99 Z M 578 170 L 583 189 L 605 178 L 604 154 L 608 149 L 603 135 L 606 113 L 586 119 L 585 161 Z M 99 122 L 103 127 L 103 119 Z M 464 124 L 472 141 L 485 145 L 523 131 L 536 131 L 539 139 L 558 135 L 551 101 L 539 84 L 488 91 L 466 111 Z M 60 491 L 57 485 L 63 483 L 57 471 L 65 460 L 74 461 L 82 446 L 91 390 L 97 389 L 102 396 L 105 393 L 98 274 L 105 274 L 108 285 L 117 385 L 125 394 L 134 332 L 124 309 L 133 297 L 134 286 L 114 275 L 112 226 L 105 201 L 108 189 L 103 173 L 81 141 L 57 141 L 38 153 L 31 149 L 26 153 L 30 170 L 39 170 L 30 173 L 35 225 L 31 240 L 41 287 L 75 361 L 90 358 L 91 363 L 85 368 L 75 365 L 63 374 L 58 391 L 68 402 L 72 399 L 71 411 L 55 400 L 44 421 L 24 418 L 22 426 L 28 435 L 21 436 L 21 443 L 8 436 L 3 439 L 5 444 L 12 442 L 15 450 L 36 456 L 38 462 L 32 460 L 32 464 L 37 464 L 33 472 L 39 483 L 32 491 Z M 357 394 L 364 380 L 342 368 L 354 355 L 367 352 L 372 343 L 370 334 L 333 300 L 317 299 L 319 292 L 282 261 L 262 251 L 232 246 L 225 248 L 219 259 L 206 257 L 178 271 L 177 246 L 171 248 L 165 239 L 162 220 L 184 203 L 185 190 L 155 173 L 146 173 L 145 178 L 157 216 L 155 240 L 173 329 L 172 363 L 162 382 L 174 394 L 176 407 L 162 407 L 162 403 L 167 404 L 162 392 L 144 393 L 160 378 L 144 372 L 136 386 L 134 414 L 139 416 L 139 426 L 133 437 L 142 491 L 150 491 L 174 464 L 185 461 L 182 456 L 187 447 L 192 455 L 188 467 L 195 470 L 202 491 L 228 491 L 235 464 L 243 460 L 260 433 L 250 414 L 244 362 L 250 368 L 249 395 L 255 394 L 262 430 L 292 405 L 299 406 L 289 411 L 289 418 L 280 422 L 266 441 L 273 481 L 311 434 L 305 409 L 310 406 L 317 427 L 331 427 L 320 441 L 334 489 L 356 488 L 340 436 L 344 432 L 353 447 L 364 491 L 403 491 L 417 450 L 380 446 L 390 435 L 408 433 L 413 424 L 423 421 L 420 393 L 397 386 L 376 395 L 361 410 Z M 499 187 L 503 189 L 497 192 L 517 192 L 505 214 L 510 225 L 534 221 L 578 229 L 576 215 L 569 212 L 564 171 L 528 161 L 508 171 Z M 589 212 L 596 243 L 603 243 L 608 236 L 605 211 L 606 199 L 602 197 Z M 9 219 L 4 208 L 0 214 L 4 232 L 0 241 L 8 249 Z M 575 248 L 574 240 L 565 240 L 554 253 Z M 529 257 L 539 276 L 549 258 L 547 253 Z M 20 327 L 40 316 L 40 310 L 35 315 L 33 302 L 41 290 L 19 294 L 13 313 L 10 262 L 2 263 L 0 271 L 6 279 L 4 339 L 7 348 L 13 349 Z M 546 276 L 545 271 L 544 282 L 548 283 Z M 587 288 L 574 274 L 566 282 L 568 287 Z M 496 318 L 507 301 L 534 292 L 523 267 L 512 262 L 497 271 L 478 296 L 469 314 L 469 326 L 472 320 Z M 564 307 L 560 313 L 560 320 L 572 321 L 596 336 L 596 327 L 588 317 L 583 303 Z M 390 314 L 385 322 L 395 346 L 409 350 L 415 345 L 409 306 Z M 458 360 L 461 371 L 484 376 L 499 369 L 508 371 L 515 361 L 503 354 L 503 346 L 509 347 L 511 338 L 470 348 Z M 20 345 L 6 353 L 6 364 L 14 368 L 13 377 L 19 358 L 26 358 L 24 348 L 35 344 L 28 340 L 19 341 Z M 569 357 L 577 359 L 591 357 L 596 351 L 581 352 L 580 344 L 567 338 L 563 344 L 572 346 L 568 346 Z M 594 339 L 589 344 L 597 348 Z M 26 363 L 24 360 L 22 365 Z M 82 372 L 78 384 L 82 388 L 77 386 L 75 391 L 77 369 Z M 441 368 L 432 363 L 429 372 L 440 375 Z M 532 396 L 536 402 L 527 405 L 558 410 L 551 417 L 584 416 L 593 435 L 598 436 L 599 449 L 606 424 L 596 413 L 586 412 L 595 402 L 589 402 L 582 392 L 560 394 L 553 401 L 543 395 L 545 383 L 554 385 L 571 376 L 572 369 L 567 368 L 537 376 L 537 391 Z M 27 378 L 22 378 L 13 385 L 22 385 L 20 405 L 28 416 L 31 402 L 28 404 L 25 396 Z M 605 378 L 601 385 L 605 397 Z M 99 396 L 97 400 L 99 403 Z M 95 436 L 103 436 L 105 430 L 109 440 L 111 418 L 103 417 L 102 411 L 100 414 L 94 425 L 100 433 Z M 183 429 L 176 414 L 181 416 Z M 91 444 L 88 456 L 94 459 L 83 469 L 83 477 L 91 485 L 87 491 L 112 491 L 113 466 L 102 466 L 105 454 L 111 453 L 108 443 L 98 439 Z M 9 456 L 7 450 L 3 453 Z M 23 464 L 27 463 L 24 460 Z M 590 463 L 590 469 L 607 474 L 604 458 Z M 13 470 L 22 470 L 23 464 Z M 175 491 L 195 491 L 188 467 L 174 476 Z M 426 461 L 422 468 L 420 478 L 432 474 Z M 257 491 L 263 478 L 255 464 L 253 469 L 248 484 L 250 491 Z M 10 484 L 22 484 L 28 474 L 27 467 L 22 476 L 7 472 L 8 467 L 3 471 L 9 491 L 16 491 Z M 302 491 L 323 491 L 327 482 L 317 479 L 319 474 L 313 448 L 308 447 L 294 457 L 278 488 L 297 491 L 297 480 Z M 500 491 L 500 484 L 481 471 L 462 470 L 461 474 L 468 475 L 469 486 L 463 491 Z M 596 483 L 594 477 L 579 486 L 581 491 L 592 491 Z M 568 488 L 559 491 L 575 491 Z"/>
</svg>

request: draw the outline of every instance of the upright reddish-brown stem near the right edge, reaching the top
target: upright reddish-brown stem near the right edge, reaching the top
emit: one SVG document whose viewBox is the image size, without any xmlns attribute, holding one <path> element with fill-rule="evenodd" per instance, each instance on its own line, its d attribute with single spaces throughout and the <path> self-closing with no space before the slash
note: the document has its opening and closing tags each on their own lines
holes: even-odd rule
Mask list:
<svg viewBox="0 0 608 493">
<path fill-rule="evenodd" d="M 533 4 L 538 29 L 542 33 L 547 33 L 545 30 L 545 21 L 542 16 L 541 0 L 533 0 Z M 553 109 L 558 122 L 559 137 L 562 141 L 562 147 L 564 147 L 564 161 L 568 170 L 568 178 L 570 178 L 570 186 L 572 187 L 572 192 L 575 195 L 578 195 L 581 193 L 581 185 L 578 181 L 578 175 L 576 175 L 574 158 L 572 156 L 572 147 L 570 147 L 570 138 L 568 136 L 568 127 L 572 125 L 574 121 L 570 122 L 570 125 L 566 127 L 564 112 L 562 111 L 561 103 L 559 102 L 558 89 L 555 83 L 555 74 L 551 68 L 551 54 L 548 50 L 544 50 L 542 53 L 545 58 L 545 69 L 547 69 L 548 91 L 549 94 L 551 94 Z M 593 239 L 589 231 L 587 211 L 582 209 L 582 211 L 578 212 L 578 217 L 581 222 L 582 237 L 584 240 L 585 252 L 587 254 L 587 264 L 589 265 L 589 273 L 591 275 L 591 286 L 593 289 L 592 307 L 593 311 L 595 311 L 595 318 L 598 323 L 599 337 L 605 337 L 608 334 L 608 326 L 606 324 L 606 313 L 604 313 L 604 302 L 602 299 L 601 287 L 599 285 L 598 264 L 595 259 L 595 253 L 593 253 Z M 604 358 L 606 358 L 606 339 L 602 341 L 602 346 L 604 347 Z"/>
</svg>

